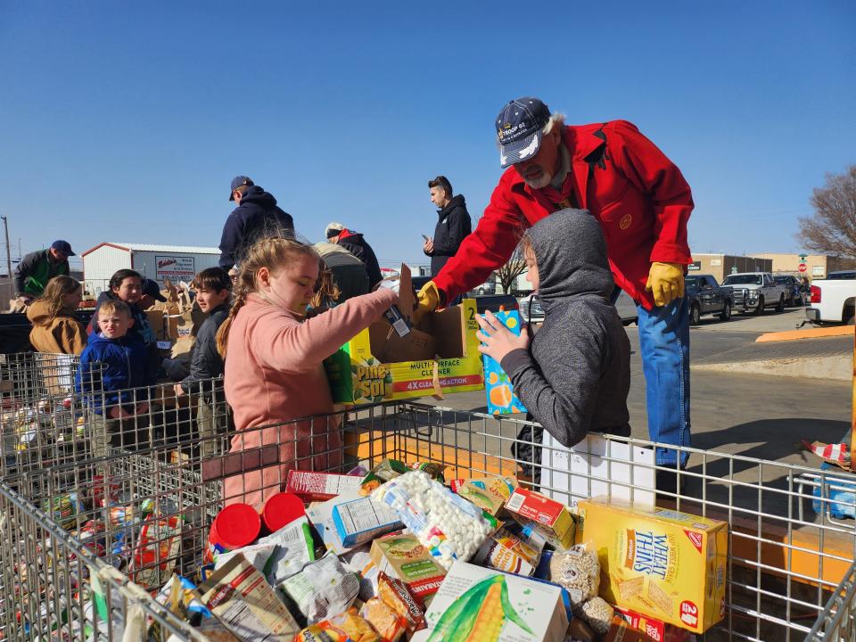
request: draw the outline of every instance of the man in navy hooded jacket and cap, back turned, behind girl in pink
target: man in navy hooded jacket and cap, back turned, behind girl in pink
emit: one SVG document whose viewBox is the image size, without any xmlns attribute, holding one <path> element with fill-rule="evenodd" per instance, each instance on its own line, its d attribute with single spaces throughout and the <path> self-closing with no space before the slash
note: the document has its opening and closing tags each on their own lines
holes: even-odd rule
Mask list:
<svg viewBox="0 0 856 642">
<path fill-rule="evenodd" d="M 294 237 L 294 219 L 276 205 L 276 199 L 255 185 L 251 178 L 232 179 L 229 201 L 238 206 L 226 218 L 220 238 L 220 268 L 228 270 L 241 262 L 253 243 L 270 236 Z"/>
</svg>

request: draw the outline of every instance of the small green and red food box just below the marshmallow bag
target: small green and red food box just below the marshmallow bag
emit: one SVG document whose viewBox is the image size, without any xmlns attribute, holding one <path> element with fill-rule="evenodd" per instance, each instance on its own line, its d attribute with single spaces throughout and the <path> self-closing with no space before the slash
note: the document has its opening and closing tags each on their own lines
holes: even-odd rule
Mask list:
<svg viewBox="0 0 856 642">
<path fill-rule="evenodd" d="M 372 562 L 380 571 L 403 581 L 416 597 L 424 599 L 440 588 L 446 570 L 416 535 L 387 535 L 372 542 Z"/>
</svg>

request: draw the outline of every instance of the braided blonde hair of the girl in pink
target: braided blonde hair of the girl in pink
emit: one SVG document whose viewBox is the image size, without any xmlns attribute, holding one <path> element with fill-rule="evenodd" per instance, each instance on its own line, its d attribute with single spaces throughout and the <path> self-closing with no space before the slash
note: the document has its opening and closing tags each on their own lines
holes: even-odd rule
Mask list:
<svg viewBox="0 0 856 642">
<path fill-rule="evenodd" d="M 226 317 L 226 321 L 220 325 L 217 332 L 217 351 L 221 357 L 226 358 L 229 329 L 232 327 L 235 317 L 247 302 L 247 297 L 258 290 L 256 275 L 259 273 L 259 269 L 268 268 L 272 273 L 276 273 L 287 268 L 292 260 L 300 256 L 314 257 L 319 261 L 319 264 L 321 261 L 321 257 L 318 256 L 314 247 L 288 238 L 263 238 L 250 248 L 246 259 L 241 264 L 241 271 L 238 272 L 237 282 L 233 290 L 235 302 L 232 304 L 232 309 L 229 310 L 229 316 Z"/>
</svg>

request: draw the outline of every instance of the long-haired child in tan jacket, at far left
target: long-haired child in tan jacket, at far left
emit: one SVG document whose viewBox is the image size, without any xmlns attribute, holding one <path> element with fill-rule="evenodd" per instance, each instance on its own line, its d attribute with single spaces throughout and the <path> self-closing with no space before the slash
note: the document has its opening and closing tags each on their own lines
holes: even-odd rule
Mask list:
<svg viewBox="0 0 856 642">
<path fill-rule="evenodd" d="M 54 276 L 45 292 L 29 304 L 33 329 L 29 342 L 39 352 L 77 355 L 86 348 L 86 327 L 74 316 L 80 305 L 80 284 L 70 276 Z"/>
</svg>

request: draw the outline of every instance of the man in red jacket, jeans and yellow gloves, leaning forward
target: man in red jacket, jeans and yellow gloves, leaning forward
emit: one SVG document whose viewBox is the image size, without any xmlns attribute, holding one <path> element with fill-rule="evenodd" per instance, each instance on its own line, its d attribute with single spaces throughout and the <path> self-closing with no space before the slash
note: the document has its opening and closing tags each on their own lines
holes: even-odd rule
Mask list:
<svg viewBox="0 0 856 642">
<path fill-rule="evenodd" d="M 604 230 L 615 284 L 638 306 L 648 432 L 654 441 L 689 446 L 687 181 L 626 120 L 565 126 L 564 115 L 523 97 L 499 112 L 496 128 L 507 169 L 473 234 L 419 292 L 416 314 L 483 283 L 524 228 L 564 208 L 588 210 Z M 657 463 L 684 467 L 687 453 L 660 448 Z"/>
</svg>

